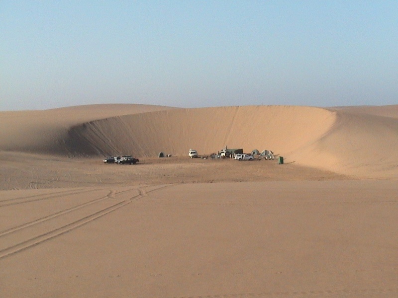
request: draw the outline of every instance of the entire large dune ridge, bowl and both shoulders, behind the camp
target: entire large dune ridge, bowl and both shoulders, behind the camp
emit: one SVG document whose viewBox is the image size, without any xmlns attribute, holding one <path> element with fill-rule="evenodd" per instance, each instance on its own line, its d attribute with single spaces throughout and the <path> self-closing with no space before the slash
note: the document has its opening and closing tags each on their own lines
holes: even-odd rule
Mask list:
<svg viewBox="0 0 398 298">
<path fill-rule="evenodd" d="M 353 177 L 397 178 L 398 106 L 95 105 L 1 112 L 0 149 L 68 156 L 273 150 L 286 162 Z"/>
</svg>

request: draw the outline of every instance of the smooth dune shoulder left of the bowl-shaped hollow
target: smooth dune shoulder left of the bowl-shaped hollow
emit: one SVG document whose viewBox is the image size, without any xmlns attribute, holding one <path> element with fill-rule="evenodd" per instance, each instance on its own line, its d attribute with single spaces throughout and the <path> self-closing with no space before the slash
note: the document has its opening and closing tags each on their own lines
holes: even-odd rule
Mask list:
<svg viewBox="0 0 398 298">
<path fill-rule="evenodd" d="M 142 104 L 98 104 L 43 111 L 0 112 L 0 150 L 47 154 L 81 153 L 69 150 L 70 130 L 86 122 L 171 107 Z M 84 149 L 84 144 L 82 144 Z"/>
</svg>

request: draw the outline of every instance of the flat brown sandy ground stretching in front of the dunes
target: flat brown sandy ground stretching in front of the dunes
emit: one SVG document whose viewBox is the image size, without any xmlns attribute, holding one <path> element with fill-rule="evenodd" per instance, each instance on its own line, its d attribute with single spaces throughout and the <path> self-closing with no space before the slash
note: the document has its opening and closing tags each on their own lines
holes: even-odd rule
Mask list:
<svg viewBox="0 0 398 298">
<path fill-rule="evenodd" d="M 398 295 L 397 181 L 276 160 L 1 158 L 0 297 Z"/>
</svg>

